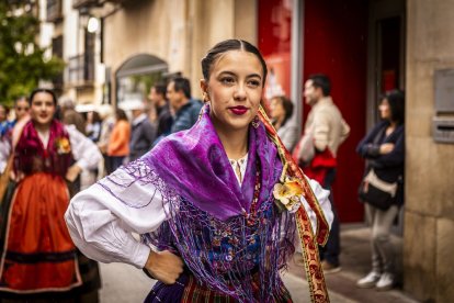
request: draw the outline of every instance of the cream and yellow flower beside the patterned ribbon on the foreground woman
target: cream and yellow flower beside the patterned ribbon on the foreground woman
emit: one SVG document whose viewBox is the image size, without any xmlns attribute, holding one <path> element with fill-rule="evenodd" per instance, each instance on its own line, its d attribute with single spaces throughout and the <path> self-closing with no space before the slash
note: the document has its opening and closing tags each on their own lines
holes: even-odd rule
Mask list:
<svg viewBox="0 0 454 303">
<path fill-rule="evenodd" d="M 273 195 L 280 210 L 296 212 L 300 204 L 300 194 L 303 194 L 303 188 L 295 179 L 285 178 L 284 182 L 274 184 Z"/>
</svg>

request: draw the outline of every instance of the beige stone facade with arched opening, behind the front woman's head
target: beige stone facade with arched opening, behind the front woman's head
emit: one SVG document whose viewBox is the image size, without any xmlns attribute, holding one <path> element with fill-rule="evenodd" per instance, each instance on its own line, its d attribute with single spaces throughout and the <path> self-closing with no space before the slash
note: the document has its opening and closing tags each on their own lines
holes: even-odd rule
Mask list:
<svg viewBox="0 0 454 303">
<path fill-rule="evenodd" d="M 254 43 L 256 23 L 256 1 L 124 1 L 121 9 L 104 18 L 103 56 L 110 70 L 106 80 L 111 82 L 112 103 L 127 98 L 120 88 L 123 76 L 154 70 L 182 74 L 190 78 L 193 94 L 201 96 L 201 59 L 205 52 L 230 37 Z M 132 64 L 136 68 L 125 70 L 125 64 L 139 55 L 145 55 L 143 63 L 148 70 L 138 61 L 139 66 Z"/>
</svg>

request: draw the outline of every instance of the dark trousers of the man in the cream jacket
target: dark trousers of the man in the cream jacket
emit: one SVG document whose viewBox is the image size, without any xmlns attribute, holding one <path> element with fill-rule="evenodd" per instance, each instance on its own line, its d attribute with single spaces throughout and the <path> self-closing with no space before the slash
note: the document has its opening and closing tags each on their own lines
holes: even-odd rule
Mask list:
<svg viewBox="0 0 454 303">
<path fill-rule="evenodd" d="M 334 179 L 336 168 L 331 168 L 328 170 L 327 176 L 325 177 L 322 187 L 331 191 Z M 338 211 L 336 210 L 332 191 L 329 194 L 329 202 L 331 203 L 331 210 L 332 214 L 334 215 L 334 218 L 332 220 L 331 231 L 329 232 L 327 245 L 325 245 L 325 247 L 319 246 L 320 259 L 326 260 L 333 266 L 339 266 L 340 226 Z"/>
</svg>

